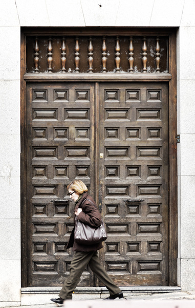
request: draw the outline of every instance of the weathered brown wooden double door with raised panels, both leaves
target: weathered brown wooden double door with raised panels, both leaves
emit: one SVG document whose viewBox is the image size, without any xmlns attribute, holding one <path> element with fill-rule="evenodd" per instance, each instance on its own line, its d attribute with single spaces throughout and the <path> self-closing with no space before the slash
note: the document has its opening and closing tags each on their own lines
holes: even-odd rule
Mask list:
<svg viewBox="0 0 195 308">
<path fill-rule="evenodd" d="M 26 118 L 28 285 L 69 275 L 74 179 L 101 210 L 116 283 L 168 285 L 168 85 L 29 82 Z M 79 285 L 101 284 L 86 268 Z"/>
</svg>

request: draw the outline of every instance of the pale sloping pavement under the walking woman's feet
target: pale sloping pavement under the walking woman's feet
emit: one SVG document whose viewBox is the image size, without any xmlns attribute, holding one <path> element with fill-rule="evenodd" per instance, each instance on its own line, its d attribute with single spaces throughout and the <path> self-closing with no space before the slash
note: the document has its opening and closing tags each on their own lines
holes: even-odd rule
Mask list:
<svg viewBox="0 0 195 308">
<path fill-rule="evenodd" d="M 96 306 L 100 306 L 104 308 L 106 305 L 107 308 L 125 308 L 126 306 L 131 306 L 131 308 L 153 308 L 158 307 L 161 308 L 191 308 L 195 307 L 195 291 L 188 292 L 170 292 L 170 293 L 158 293 L 158 294 L 132 294 L 131 296 L 125 295 L 123 292 L 125 299 L 115 299 L 114 301 L 102 301 L 102 299 L 91 299 L 91 300 L 82 300 L 81 298 L 72 301 L 65 301 L 65 308 L 96 308 Z M 57 296 L 56 296 L 57 297 Z M 50 295 L 48 294 L 48 299 Z M 158 303 L 157 303 L 158 302 Z M 1 304 L 1 303 L 0 303 Z M 16 307 L 16 306 L 15 306 Z M 18 307 L 18 306 L 17 306 Z M 28 305 L 21 306 L 22 308 L 56 308 L 57 305 L 55 303 L 44 304 L 44 305 Z M 13 308 L 13 306 L 12 306 Z"/>
</svg>

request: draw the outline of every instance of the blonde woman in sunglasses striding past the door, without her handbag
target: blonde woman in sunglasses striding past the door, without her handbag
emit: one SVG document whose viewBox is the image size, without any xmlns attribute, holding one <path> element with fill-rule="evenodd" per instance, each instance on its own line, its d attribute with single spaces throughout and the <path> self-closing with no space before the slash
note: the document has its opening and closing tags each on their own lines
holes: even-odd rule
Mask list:
<svg viewBox="0 0 195 308">
<path fill-rule="evenodd" d="M 68 185 L 70 198 L 75 201 L 75 217 L 84 224 L 92 227 L 101 225 L 101 214 L 95 205 L 95 201 L 88 195 L 88 188 L 80 181 L 75 180 Z M 80 276 L 86 265 L 89 264 L 93 273 L 107 287 L 110 296 L 105 299 L 123 298 L 120 288 L 107 275 L 105 268 L 101 265 L 97 251 L 101 249 L 102 242 L 90 245 L 80 245 L 74 241 L 74 228 L 71 233 L 67 248 L 73 247 L 75 252 L 70 266 L 70 276 L 66 278 L 59 293 L 59 298 L 51 298 L 57 304 L 62 304 L 66 299 L 72 299 L 72 293 L 75 290 Z"/>
</svg>

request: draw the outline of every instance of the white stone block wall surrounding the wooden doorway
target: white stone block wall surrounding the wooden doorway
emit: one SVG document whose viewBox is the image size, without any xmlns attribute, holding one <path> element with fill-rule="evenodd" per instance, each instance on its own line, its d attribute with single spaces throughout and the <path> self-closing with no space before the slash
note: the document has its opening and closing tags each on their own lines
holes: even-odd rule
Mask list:
<svg viewBox="0 0 195 308">
<path fill-rule="evenodd" d="M 1 0 L 0 306 L 20 305 L 20 27 L 24 26 L 179 28 L 178 284 L 183 291 L 195 290 L 194 11 L 194 0 Z"/>
</svg>

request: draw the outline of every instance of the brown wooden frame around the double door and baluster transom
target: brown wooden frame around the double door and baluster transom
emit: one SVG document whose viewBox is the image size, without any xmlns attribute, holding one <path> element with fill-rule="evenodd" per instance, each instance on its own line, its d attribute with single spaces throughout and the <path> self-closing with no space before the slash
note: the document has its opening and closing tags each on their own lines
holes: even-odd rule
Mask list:
<svg viewBox="0 0 195 308">
<path fill-rule="evenodd" d="M 169 72 L 163 74 L 31 74 L 26 73 L 26 36 L 54 33 L 73 34 L 82 31 L 85 35 L 94 33 L 121 34 L 131 30 L 131 35 L 163 33 L 169 37 Z M 132 34 L 133 31 L 133 34 Z M 21 285 L 27 285 L 27 206 L 26 206 L 26 83 L 28 81 L 164 81 L 169 84 L 169 285 L 177 285 L 178 258 L 178 200 L 177 200 L 177 72 L 176 72 L 176 30 L 169 28 L 21 28 Z"/>
</svg>

